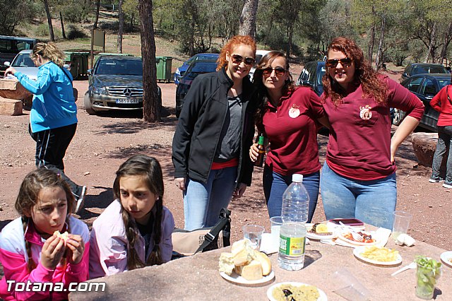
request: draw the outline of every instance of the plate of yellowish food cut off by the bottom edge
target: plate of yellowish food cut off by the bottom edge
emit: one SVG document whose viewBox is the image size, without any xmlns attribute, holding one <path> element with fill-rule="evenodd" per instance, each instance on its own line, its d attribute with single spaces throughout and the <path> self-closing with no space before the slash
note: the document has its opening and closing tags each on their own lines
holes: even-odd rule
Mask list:
<svg viewBox="0 0 452 301">
<path fill-rule="evenodd" d="M 293 297 L 293 300 L 307 300 L 307 301 L 327 301 L 326 293 L 323 290 L 316 288 L 314 285 L 309 285 L 301 282 L 280 282 L 273 284 L 267 290 L 267 297 L 270 301 L 287 300 L 287 297 Z"/>
</svg>

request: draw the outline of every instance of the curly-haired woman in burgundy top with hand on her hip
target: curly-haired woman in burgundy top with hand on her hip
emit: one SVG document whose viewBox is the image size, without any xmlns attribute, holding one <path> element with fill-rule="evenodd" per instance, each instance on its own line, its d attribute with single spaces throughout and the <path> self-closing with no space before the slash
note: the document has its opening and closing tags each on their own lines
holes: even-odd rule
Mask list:
<svg viewBox="0 0 452 301">
<path fill-rule="evenodd" d="M 326 219 L 359 218 L 391 229 L 396 209 L 400 143 L 419 124 L 424 105 L 409 90 L 373 69 L 354 41 L 328 46 L 323 107 L 331 124 L 321 197 Z M 391 139 L 390 107 L 407 112 Z"/>
</svg>

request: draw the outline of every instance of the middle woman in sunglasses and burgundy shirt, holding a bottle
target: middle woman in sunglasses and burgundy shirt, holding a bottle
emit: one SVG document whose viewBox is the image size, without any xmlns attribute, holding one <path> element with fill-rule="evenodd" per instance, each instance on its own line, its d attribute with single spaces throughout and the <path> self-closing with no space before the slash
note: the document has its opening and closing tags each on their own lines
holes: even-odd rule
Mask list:
<svg viewBox="0 0 452 301">
<path fill-rule="evenodd" d="M 307 87 L 295 87 L 289 62 L 282 52 L 269 52 L 254 73 L 258 88 L 258 131 L 270 143 L 263 168 L 263 191 L 268 215 L 280 216 L 283 193 L 293 174 L 303 175 L 309 193 L 308 223 L 311 222 L 319 196 L 320 168 L 316 120 L 328 125 L 319 96 Z M 256 161 L 257 143 L 249 150 Z"/>
</svg>

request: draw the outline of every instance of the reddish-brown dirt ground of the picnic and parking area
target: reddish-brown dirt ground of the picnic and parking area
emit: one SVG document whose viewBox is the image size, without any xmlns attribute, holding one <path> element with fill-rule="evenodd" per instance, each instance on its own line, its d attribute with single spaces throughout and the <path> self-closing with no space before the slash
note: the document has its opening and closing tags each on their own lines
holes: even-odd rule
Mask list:
<svg viewBox="0 0 452 301">
<path fill-rule="evenodd" d="M 391 77 L 397 76 L 393 74 Z M 90 116 L 83 110 L 83 94 L 88 82 L 74 81 L 74 85 L 79 91 L 78 129 L 67 151 L 65 164 L 66 174 L 88 187 L 80 218 L 88 225 L 93 223 L 113 200 L 114 172 L 119 165 L 133 154 L 144 153 L 160 160 L 165 177 L 165 206 L 172 211 L 177 227 L 183 228 L 182 193 L 174 184 L 171 161 L 172 136 L 177 124 L 174 83 L 159 84 L 166 116 L 157 124 L 143 122 L 140 114 L 116 112 Z M 0 229 L 18 216 L 14 202 L 20 182 L 35 167 L 35 143 L 28 135 L 28 119 L 29 111 L 24 111 L 21 116 L 0 115 Z M 327 142 L 328 137 L 319 135 L 321 163 Z M 417 165 L 410 138 L 400 147 L 396 163 L 397 208 L 414 216 L 409 234 L 416 240 L 451 249 L 451 190 L 441 187 L 441 184 L 429 184 L 431 169 Z M 242 225 L 260 224 L 270 230 L 261 177 L 261 168 L 256 168 L 252 186 L 242 199 L 234 199 L 230 204 L 233 241 L 242 237 Z M 321 220 L 325 220 L 325 216 L 319 196 L 314 222 Z"/>
</svg>

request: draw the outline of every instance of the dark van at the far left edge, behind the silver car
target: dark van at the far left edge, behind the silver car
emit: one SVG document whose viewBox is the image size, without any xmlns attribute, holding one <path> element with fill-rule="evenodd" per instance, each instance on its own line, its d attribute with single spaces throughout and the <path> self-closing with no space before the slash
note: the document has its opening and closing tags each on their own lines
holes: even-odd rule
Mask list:
<svg viewBox="0 0 452 301">
<path fill-rule="evenodd" d="M 11 62 L 16 54 L 22 50 L 33 49 L 37 39 L 30 37 L 13 37 L 10 35 L 0 35 L 0 73 L 3 75 L 8 68 L 4 63 Z"/>
</svg>

